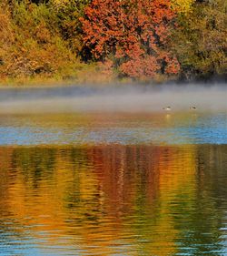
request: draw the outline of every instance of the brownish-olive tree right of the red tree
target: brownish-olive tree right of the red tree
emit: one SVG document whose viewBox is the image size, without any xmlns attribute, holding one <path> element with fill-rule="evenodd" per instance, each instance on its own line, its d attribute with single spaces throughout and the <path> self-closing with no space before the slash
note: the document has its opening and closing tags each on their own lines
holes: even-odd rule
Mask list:
<svg viewBox="0 0 227 256">
<path fill-rule="evenodd" d="M 190 14 L 179 16 L 171 44 L 183 79 L 226 76 L 226 12 L 225 0 L 197 1 Z"/>
</svg>

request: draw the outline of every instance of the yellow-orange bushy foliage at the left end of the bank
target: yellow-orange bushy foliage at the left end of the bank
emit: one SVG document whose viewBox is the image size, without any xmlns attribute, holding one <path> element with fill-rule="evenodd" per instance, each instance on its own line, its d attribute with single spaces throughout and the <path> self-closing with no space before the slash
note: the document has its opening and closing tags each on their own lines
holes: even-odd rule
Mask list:
<svg viewBox="0 0 227 256">
<path fill-rule="evenodd" d="M 74 62 L 52 8 L 29 0 L 0 5 L 0 77 L 54 75 Z"/>
</svg>

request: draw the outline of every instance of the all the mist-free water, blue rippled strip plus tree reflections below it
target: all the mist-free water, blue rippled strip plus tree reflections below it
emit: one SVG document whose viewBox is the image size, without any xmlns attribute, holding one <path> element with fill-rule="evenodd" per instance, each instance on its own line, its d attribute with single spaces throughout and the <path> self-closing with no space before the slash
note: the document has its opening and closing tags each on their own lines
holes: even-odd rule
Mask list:
<svg viewBox="0 0 227 256">
<path fill-rule="evenodd" d="M 0 255 L 227 255 L 227 113 L 0 115 Z"/>
</svg>

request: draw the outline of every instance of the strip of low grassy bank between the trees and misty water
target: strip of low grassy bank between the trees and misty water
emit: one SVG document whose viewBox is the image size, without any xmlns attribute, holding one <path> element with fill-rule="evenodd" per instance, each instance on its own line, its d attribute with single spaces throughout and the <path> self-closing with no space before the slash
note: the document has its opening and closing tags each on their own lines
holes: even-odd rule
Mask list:
<svg viewBox="0 0 227 256">
<path fill-rule="evenodd" d="M 181 77 L 165 77 L 160 76 L 154 79 L 135 80 L 131 77 L 116 77 L 104 74 L 102 70 L 89 69 L 74 72 L 66 77 L 63 74 L 54 74 L 52 77 L 15 77 L 0 78 L 0 89 L 6 88 L 51 88 L 51 87 L 113 87 L 113 86 L 148 86 L 148 87 L 162 87 L 162 86 L 179 86 L 187 87 L 189 85 L 202 85 L 210 87 L 211 85 L 224 85 L 227 87 L 226 76 L 213 76 L 207 78 L 192 77 L 191 79 L 183 79 Z"/>
</svg>

